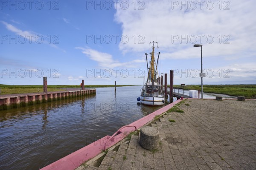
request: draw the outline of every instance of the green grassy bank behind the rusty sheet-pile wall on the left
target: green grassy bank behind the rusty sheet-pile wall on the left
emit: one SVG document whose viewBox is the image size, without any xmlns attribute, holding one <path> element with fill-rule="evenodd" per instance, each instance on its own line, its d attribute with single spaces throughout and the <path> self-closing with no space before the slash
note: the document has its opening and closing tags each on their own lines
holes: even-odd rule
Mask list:
<svg viewBox="0 0 256 170">
<path fill-rule="evenodd" d="M 116 85 L 116 87 L 131 85 Z M 84 85 L 85 88 L 106 88 L 114 85 Z M 1 94 L 22 94 L 43 92 L 43 85 L 1 85 Z M 48 85 L 47 91 L 65 91 L 65 88 L 80 88 L 80 85 Z"/>
</svg>

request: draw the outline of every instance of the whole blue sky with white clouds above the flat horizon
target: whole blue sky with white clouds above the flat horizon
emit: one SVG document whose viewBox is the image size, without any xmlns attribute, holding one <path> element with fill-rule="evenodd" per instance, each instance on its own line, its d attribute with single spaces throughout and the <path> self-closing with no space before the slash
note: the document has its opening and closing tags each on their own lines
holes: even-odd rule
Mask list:
<svg viewBox="0 0 256 170">
<path fill-rule="evenodd" d="M 1 1 L 0 84 L 143 84 L 158 42 L 175 84 L 256 84 L 256 2 Z M 169 77 L 169 76 L 168 76 Z M 169 80 L 168 80 L 169 81 Z"/>
</svg>

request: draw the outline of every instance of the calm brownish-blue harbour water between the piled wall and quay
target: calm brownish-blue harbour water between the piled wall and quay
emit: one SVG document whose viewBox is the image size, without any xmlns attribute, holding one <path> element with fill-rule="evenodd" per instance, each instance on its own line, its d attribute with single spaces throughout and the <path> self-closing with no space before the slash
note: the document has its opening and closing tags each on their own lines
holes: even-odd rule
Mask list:
<svg viewBox="0 0 256 170">
<path fill-rule="evenodd" d="M 0 169 L 40 169 L 161 108 L 137 105 L 140 88 L 0 111 Z"/>
</svg>

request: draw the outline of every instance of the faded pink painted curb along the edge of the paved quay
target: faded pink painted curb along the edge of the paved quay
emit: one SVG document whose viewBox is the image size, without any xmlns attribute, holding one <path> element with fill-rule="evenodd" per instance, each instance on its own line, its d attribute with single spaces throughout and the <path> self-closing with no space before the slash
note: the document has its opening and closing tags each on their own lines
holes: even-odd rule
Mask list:
<svg viewBox="0 0 256 170">
<path fill-rule="evenodd" d="M 150 122 L 155 118 L 155 116 L 158 116 L 166 111 L 168 111 L 170 108 L 172 108 L 174 105 L 182 101 L 181 99 L 163 107 L 160 108 L 157 111 L 154 111 L 153 113 L 129 124 L 131 126 L 136 126 L 137 129 L 145 125 L 146 123 Z M 129 126 L 128 125 L 128 126 Z M 99 139 L 79 150 L 77 150 L 74 153 L 71 153 L 64 158 L 59 159 L 58 161 L 53 162 L 52 164 L 47 165 L 46 167 L 43 167 L 41 170 L 74 170 L 78 168 L 82 163 L 85 161 L 88 161 L 89 159 L 94 158 L 95 156 L 99 155 L 99 153 L 104 150 L 105 144 L 106 149 L 110 148 L 114 144 L 118 143 L 122 139 L 124 139 L 126 136 L 128 136 L 129 133 L 134 132 L 134 127 L 125 127 L 121 133 L 114 136 L 111 141 L 108 143 L 105 143 L 108 141 L 108 139 L 111 136 L 105 136 L 102 139 Z"/>
</svg>

